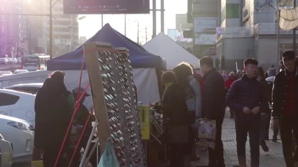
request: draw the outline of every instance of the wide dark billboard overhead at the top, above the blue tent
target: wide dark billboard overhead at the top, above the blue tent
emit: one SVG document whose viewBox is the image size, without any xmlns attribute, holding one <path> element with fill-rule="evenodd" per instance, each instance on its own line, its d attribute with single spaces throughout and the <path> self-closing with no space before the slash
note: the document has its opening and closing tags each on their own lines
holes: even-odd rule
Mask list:
<svg viewBox="0 0 298 167">
<path fill-rule="evenodd" d="M 149 0 L 63 0 L 64 14 L 147 14 Z"/>
</svg>

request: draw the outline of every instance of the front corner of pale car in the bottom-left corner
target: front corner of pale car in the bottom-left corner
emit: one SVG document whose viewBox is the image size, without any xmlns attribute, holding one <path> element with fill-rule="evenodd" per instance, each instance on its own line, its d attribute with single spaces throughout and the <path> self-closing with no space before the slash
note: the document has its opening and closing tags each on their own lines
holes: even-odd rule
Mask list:
<svg viewBox="0 0 298 167">
<path fill-rule="evenodd" d="M 6 141 L 0 134 L 0 167 L 11 167 L 12 165 L 12 147 L 11 143 Z"/>
</svg>

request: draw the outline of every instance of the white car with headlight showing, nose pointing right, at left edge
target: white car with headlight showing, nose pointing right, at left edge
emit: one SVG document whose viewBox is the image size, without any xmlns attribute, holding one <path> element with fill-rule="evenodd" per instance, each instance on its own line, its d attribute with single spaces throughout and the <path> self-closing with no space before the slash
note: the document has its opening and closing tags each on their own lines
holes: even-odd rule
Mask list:
<svg viewBox="0 0 298 167">
<path fill-rule="evenodd" d="M 0 115 L 0 133 L 12 143 L 13 158 L 32 155 L 34 145 L 33 125 L 5 115 Z"/>
</svg>

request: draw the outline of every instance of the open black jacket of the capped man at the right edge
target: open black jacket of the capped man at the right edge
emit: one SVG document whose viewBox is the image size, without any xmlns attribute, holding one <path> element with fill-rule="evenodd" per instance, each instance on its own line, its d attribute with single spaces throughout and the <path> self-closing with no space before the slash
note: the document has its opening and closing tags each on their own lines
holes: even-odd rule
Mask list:
<svg viewBox="0 0 298 167">
<path fill-rule="evenodd" d="M 296 67 L 295 85 L 298 85 L 298 66 Z M 282 117 L 283 107 L 287 96 L 287 87 L 289 86 L 289 76 L 286 70 L 279 72 L 274 79 L 272 90 L 272 116 Z M 298 99 L 298 88 L 295 88 L 295 99 Z M 296 103 L 296 111 L 298 113 L 298 103 Z"/>
</svg>

